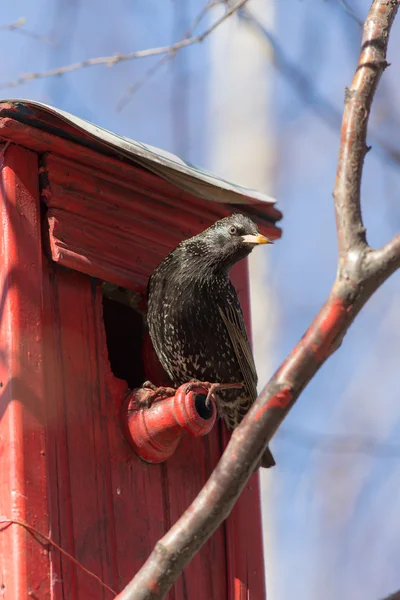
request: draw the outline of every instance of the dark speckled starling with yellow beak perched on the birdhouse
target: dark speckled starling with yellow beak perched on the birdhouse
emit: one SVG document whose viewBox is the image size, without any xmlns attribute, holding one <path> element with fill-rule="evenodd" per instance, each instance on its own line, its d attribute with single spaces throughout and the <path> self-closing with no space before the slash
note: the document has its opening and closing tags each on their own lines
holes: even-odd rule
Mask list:
<svg viewBox="0 0 400 600">
<path fill-rule="evenodd" d="M 243 384 L 214 394 L 229 429 L 257 398 L 257 372 L 229 271 L 255 246 L 269 243 L 251 219 L 234 214 L 181 242 L 149 280 L 150 336 L 173 383 Z M 261 465 L 274 464 L 267 448 Z"/>
</svg>

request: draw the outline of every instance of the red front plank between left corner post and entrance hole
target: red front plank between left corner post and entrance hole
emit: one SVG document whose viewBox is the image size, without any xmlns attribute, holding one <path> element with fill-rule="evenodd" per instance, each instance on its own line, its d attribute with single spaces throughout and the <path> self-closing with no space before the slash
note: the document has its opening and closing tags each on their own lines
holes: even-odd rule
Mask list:
<svg viewBox="0 0 400 600">
<path fill-rule="evenodd" d="M 55 305 L 51 312 L 58 314 L 58 323 L 53 323 L 58 335 L 53 336 L 49 355 L 61 357 L 57 365 L 53 361 L 55 369 L 47 371 L 48 399 L 53 396 L 58 405 L 55 418 L 49 420 L 49 437 L 57 455 L 50 475 L 52 495 L 58 496 L 52 516 L 58 519 L 60 545 L 113 587 L 117 583 L 116 548 L 96 293 L 89 278 L 63 269 L 53 270 L 52 286 Z M 74 567 L 73 577 L 65 577 L 64 571 L 72 570 L 66 558 L 62 570 L 56 574 L 62 598 L 110 598 L 80 569 Z"/>
</svg>

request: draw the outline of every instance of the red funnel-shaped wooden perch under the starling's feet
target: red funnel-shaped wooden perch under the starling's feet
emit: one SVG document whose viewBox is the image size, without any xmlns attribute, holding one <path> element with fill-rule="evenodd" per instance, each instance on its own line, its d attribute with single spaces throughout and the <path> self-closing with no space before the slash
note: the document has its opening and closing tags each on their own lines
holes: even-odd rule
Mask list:
<svg viewBox="0 0 400 600">
<path fill-rule="evenodd" d="M 125 436 L 135 453 L 144 461 L 160 463 L 175 452 L 185 432 L 206 435 L 214 426 L 217 409 L 214 398 L 206 405 L 207 389 L 201 384 L 185 393 L 187 383 L 175 396 L 155 401 L 141 408 L 141 388 L 131 390 L 122 408 Z"/>
</svg>

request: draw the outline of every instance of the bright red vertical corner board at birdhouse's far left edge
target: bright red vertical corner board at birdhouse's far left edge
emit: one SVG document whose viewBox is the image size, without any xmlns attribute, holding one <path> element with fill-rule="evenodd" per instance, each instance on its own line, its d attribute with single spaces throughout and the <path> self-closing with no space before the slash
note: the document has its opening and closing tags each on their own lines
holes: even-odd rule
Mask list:
<svg viewBox="0 0 400 600">
<path fill-rule="evenodd" d="M 42 253 L 36 154 L 2 156 L 0 237 L 0 515 L 49 530 L 43 391 Z M 12 524 L 0 533 L 4 599 L 51 596 L 46 545 Z"/>
</svg>

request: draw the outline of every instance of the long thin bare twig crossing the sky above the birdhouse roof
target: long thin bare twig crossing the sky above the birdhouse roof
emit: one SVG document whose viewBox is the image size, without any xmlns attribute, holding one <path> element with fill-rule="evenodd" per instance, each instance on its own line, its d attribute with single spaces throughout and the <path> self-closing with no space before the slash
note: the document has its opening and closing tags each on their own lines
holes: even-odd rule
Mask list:
<svg viewBox="0 0 400 600">
<path fill-rule="evenodd" d="M 209 35 L 211 35 L 226 19 L 232 16 L 239 8 L 244 6 L 248 0 L 238 0 L 232 7 L 227 9 L 225 14 L 217 19 L 211 27 L 203 31 L 199 35 L 194 35 L 189 38 L 184 38 L 172 46 L 160 46 L 158 48 L 148 48 L 146 50 L 139 50 L 137 52 L 128 52 L 127 54 L 116 53 L 113 56 L 97 56 L 96 58 L 88 58 L 80 62 L 66 65 L 65 67 L 58 67 L 56 69 L 49 69 L 48 71 L 42 71 L 39 73 L 25 73 L 20 75 L 18 79 L 14 81 L 8 81 L 0 85 L 0 90 L 4 90 L 10 87 L 17 87 L 28 81 L 34 79 L 44 79 L 45 77 L 56 77 L 65 75 L 66 73 L 72 73 L 72 71 L 78 71 L 79 69 L 86 69 L 89 67 L 95 67 L 98 65 L 104 65 L 106 67 L 114 67 L 118 63 L 126 62 L 129 60 L 136 60 L 138 58 L 147 58 L 149 56 L 160 56 L 162 54 L 176 53 L 182 48 L 193 46 L 193 44 L 199 44 L 203 42 Z"/>
</svg>

